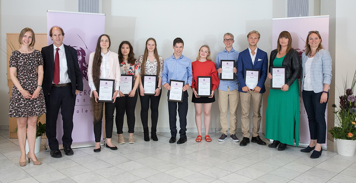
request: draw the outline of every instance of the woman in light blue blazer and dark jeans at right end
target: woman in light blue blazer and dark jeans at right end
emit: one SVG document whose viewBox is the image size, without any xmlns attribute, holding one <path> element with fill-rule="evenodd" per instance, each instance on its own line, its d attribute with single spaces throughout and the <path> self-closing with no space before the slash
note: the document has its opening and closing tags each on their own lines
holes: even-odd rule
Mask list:
<svg viewBox="0 0 356 183">
<path fill-rule="evenodd" d="M 332 60 L 329 51 L 323 49 L 318 31 L 310 31 L 302 54 L 302 97 L 307 111 L 310 144 L 300 151 L 309 153 L 310 158 L 319 158 L 326 139 L 325 109 L 329 99 Z"/>
</svg>

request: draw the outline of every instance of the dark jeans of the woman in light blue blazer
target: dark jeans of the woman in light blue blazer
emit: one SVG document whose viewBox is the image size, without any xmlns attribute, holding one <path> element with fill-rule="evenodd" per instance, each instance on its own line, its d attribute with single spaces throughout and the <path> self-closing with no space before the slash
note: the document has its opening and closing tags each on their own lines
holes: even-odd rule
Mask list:
<svg viewBox="0 0 356 183">
<path fill-rule="evenodd" d="M 323 92 L 314 93 L 314 91 L 303 90 L 303 102 L 305 111 L 307 111 L 309 121 L 310 139 L 315 140 L 318 144 L 324 144 L 326 138 L 326 122 L 325 122 L 325 103 L 320 104 L 320 97 Z"/>
</svg>

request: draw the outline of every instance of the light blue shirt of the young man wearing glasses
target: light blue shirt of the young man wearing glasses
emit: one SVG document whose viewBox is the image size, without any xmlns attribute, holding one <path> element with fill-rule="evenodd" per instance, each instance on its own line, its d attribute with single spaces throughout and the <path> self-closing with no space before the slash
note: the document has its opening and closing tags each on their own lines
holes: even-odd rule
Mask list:
<svg viewBox="0 0 356 183">
<path fill-rule="evenodd" d="M 216 70 L 220 68 L 220 60 L 235 60 L 235 67 L 237 67 L 238 57 L 239 57 L 239 52 L 235 51 L 234 48 L 232 48 L 230 52 L 227 52 L 226 48 L 223 51 L 218 52 L 218 54 L 216 54 L 216 61 L 215 61 Z M 237 80 L 236 74 L 235 74 L 234 81 L 220 80 L 218 89 L 227 91 L 227 87 L 229 87 L 230 91 L 239 89 L 239 81 Z"/>
</svg>

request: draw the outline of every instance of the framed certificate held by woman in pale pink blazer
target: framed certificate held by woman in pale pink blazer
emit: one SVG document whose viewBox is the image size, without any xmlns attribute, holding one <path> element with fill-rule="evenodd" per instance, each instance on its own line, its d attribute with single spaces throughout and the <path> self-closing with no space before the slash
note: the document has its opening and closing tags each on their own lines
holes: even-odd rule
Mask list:
<svg viewBox="0 0 356 183">
<path fill-rule="evenodd" d="M 99 79 L 99 87 L 96 89 L 99 95 L 98 102 L 114 102 L 115 79 Z"/>
</svg>

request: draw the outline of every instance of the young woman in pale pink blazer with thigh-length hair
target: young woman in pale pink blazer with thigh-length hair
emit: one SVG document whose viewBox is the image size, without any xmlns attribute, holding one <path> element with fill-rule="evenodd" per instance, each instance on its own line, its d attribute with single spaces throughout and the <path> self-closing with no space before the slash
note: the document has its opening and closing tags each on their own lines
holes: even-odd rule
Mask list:
<svg viewBox="0 0 356 183">
<path fill-rule="evenodd" d="M 116 53 L 109 50 L 111 45 L 110 37 L 102 34 L 96 43 L 96 49 L 89 56 L 88 84 L 90 86 L 91 107 L 94 117 L 94 152 L 99 152 L 101 138 L 101 123 L 103 118 L 103 105 L 105 103 L 105 133 L 106 147 L 111 150 L 117 150 L 117 147 L 111 143 L 112 128 L 114 126 L 115 100 L 118 96 L 120 85 L 120 66 Z M 114 102 L 98 102 L 99 79 L 115 79 L 115 92 L 112 96 Z"/>
</svg>

